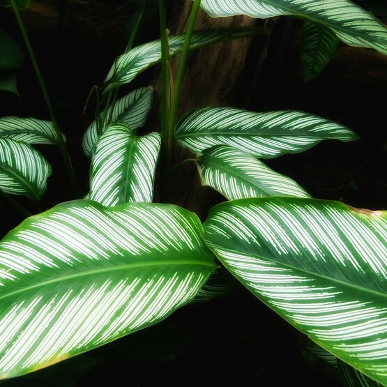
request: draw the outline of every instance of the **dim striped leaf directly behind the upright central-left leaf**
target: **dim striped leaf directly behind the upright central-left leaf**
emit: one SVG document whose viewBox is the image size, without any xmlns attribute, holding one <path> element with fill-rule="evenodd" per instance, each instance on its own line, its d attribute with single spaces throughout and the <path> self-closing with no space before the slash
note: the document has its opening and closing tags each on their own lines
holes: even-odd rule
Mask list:
<svg viewBox="0 0 387 387">
<path fill-rule="evenodd" d="M 114 106 L 109 107 L 105 120 L 101 123 L 101 130 L 104 132 L 110 123 L 114 121 L 123 121 L 128 123 L 132 130 L 142 128 L 148 117 L 153 103 L 153 88 L 142 87 L 132 91 L 125 97 L 119 99 Z M 98 120 L 101 116 L 98 116 Z M 94 120 L 87 128 L 82 147 L 84 153 L 91 158 L 94 146 L 98 139 L 97 122 Z"/>
</svg>

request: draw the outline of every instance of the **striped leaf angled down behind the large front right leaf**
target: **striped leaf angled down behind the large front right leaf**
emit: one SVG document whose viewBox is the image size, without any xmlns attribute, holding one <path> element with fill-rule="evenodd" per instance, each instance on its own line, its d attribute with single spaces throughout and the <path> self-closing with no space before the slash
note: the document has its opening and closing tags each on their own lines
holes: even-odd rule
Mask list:
<svg viewBox="0 0 387 387">
<path fill-rule="evenodd" d="M 231 146 L 206 149 L 197 159 L 197 167 L 202 185 L 214 188 L 229 200 L 277 195 L 310 197 L 289 177 Z"/>
</svg>

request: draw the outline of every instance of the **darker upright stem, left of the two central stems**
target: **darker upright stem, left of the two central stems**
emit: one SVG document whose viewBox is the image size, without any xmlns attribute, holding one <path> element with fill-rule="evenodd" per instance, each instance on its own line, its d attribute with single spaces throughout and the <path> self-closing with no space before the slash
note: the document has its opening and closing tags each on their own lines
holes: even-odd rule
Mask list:
<svg viewBox="0 0 387 387">
<path fill-rule="evenodd" d="M 167 25 L 165 22 L 164 0 L 158 0 L 158 12 L 160 16 L 160 40 L 161 40 L 161 181 L 160 202 L 168 202 L 169 176 L 166 172 L 171 165 L 172 137 L 169 132 L 169 70 L 168 70 L 168 39 Z"/>
</svg>

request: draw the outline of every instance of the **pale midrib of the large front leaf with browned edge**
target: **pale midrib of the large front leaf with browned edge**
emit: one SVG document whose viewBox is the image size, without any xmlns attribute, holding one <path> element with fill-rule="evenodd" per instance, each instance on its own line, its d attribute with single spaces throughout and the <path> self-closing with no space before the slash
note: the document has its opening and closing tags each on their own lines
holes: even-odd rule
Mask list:
<svg viewBox="0 0 387 387">
<path fill-rule="evenodd" d="M 351 282 L 344 282 L 342 280 L 338 280 L 337 278 L 328 277 L 327 275 L 323 275 L 323 274 L 320 274 L 320 273 L 314 273 L 312 271 L 307 271 L 307 270 L 305 270 L 303 268 L 299 268 L 297 266 L 291 266 L 290 264 L 282 263 L 282 262 L 276 261 L 274 259 L 268 259 L 267 257 L 263 257 L 261 255 L 256 255 L 256 254 L 253 254 L 253 253 L 252 254 L 249 253 L 249 254 L 246 255 L 245 253 L 241 252 L 240 250 L 226 249 L 226 248 L 222 248 L 222 246 L 219 246 L 219 247 L 222 250 L 227 251 L 227 252 L 236 253 L 237 255 L 243 255 L 245 257 L 246 256 L 254 257 L 254 258 L 257 258 L 257 259 L 261 259 L 262 261 L 268 261 L 268 262 L 271 262 L 271 263 L 276 264 L 276 265 L 284 266 L 285 268 L 290 268 L 291 270 L 301 271 L 301 273 L 307 273 L 309 276 L 314 276 L 314 277 L 317 277 L 317 278 L 321 278 L 321 279 L 323 279 L 323 280 L 325 280 L 327 282 L 334 282 L 335 284 L 340 284 L 343 287 L 350 287 L 351 289 L 356 289 L 357 291 L 363 291 L 363 292 L 367 292 L 367 293 L 370 293 L 370 294 L 377 295 L 379 297 L 387 298 L 387 294 L 386 293 L 379 293 L 379 291 L 377 291 L 377 290 L 369 289 L 369 288 L 363 287 L 361 285 L 352 284 Z M 218 248 L 218 246 L 216 248 Z M 212 248 L 211 248 L 211 250 L 212 250 Z M 216 255 L 216 256 L 218 257 L 218 255 Z M 220 259 L 220 261 L 223 261 L 222 257 L 220 257 L 219 259 Z M 230 264 L 227 264 L 227 266 L 234 268 L 234 266 L 232 266 Z M 241 275 L 239 275 L 239 274 L 235 273 L 235 275 L 238 275 L 239 277 L 241 277 Z M 306 277 L 308 277 L 308 275 Z M 245 281 L 245 280 L 243 279 L 243 281 Z M 340 289 L 340 287 L 337 287 L 337 289 Z"/>
</svg>

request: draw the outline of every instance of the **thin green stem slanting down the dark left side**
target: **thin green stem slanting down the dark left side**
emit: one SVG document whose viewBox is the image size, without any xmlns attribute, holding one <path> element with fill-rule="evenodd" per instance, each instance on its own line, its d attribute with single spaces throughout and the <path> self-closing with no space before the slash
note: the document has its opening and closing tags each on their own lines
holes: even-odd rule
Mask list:
<svg viewBox="0 0 387 387">
<path fill-rule="evenodd" d="M 58 146 L 63 156 L 63 160 L 68 173 L 68 179 L 70 181 L 70 186 L 71 186 L 71 189 L 73 190 L 73 195 L 75 197 L 79 197 L 78 183 L 77 183 L 77 179 L 75 178 L 75 173 L 74 173 L 73 165 L 71 164 L 70 155 L 68 154 L 68 149 L 64 142 L 61 129 L 59 128 L 58 121 L 56 120 L 56 116 L 54 113 L 54 109 L 52 108 L 50 96 L 48 95 L 47 87 L 45 86 L 42 73 L 40 72 L 40 68 L 38 66 L 38 61 L 36 60 L 36 56 L 32 50 L 31 42 L 29 41 L 29 37 L 26 33 L 26 29 L 24 28 L 22 17 L 20 17 L 20 13 L 19 13 L 19 10 L 17 9 L 15 0 L 10 0 L 10 4 L 13 8 L 13 12 L 15 13 L 15 17 L 16 17 L 17 23 L 19 24 L 20 31 L 22 32 L 24 43 L 26 44 L 27 51 L 29 52 L 29 56 L 31 58 L 32 65 L 35 70 L 36 77 L 38 78 L 40 89 L 42 90 L 43 97 L 45 98 L 45 103 L 47 105 L 47 109 L 50 114 L 52 125 L 54 126 L 54 130 L 56 132 Z"/>
</svg>

